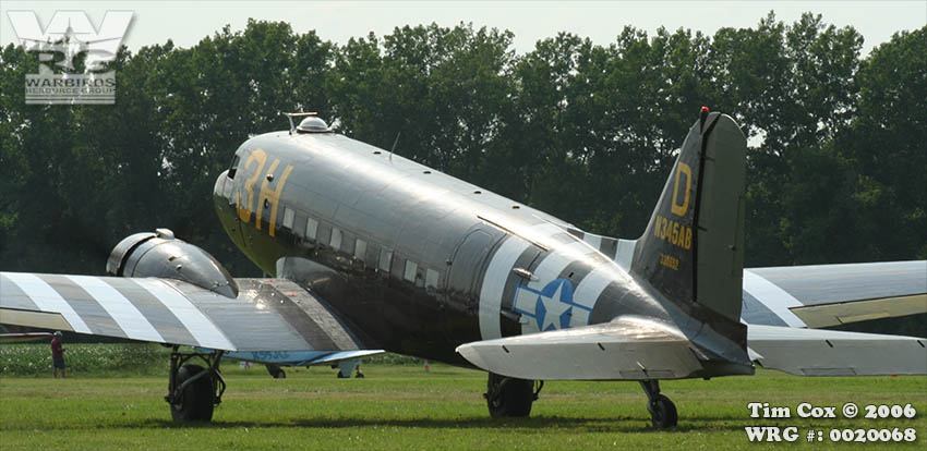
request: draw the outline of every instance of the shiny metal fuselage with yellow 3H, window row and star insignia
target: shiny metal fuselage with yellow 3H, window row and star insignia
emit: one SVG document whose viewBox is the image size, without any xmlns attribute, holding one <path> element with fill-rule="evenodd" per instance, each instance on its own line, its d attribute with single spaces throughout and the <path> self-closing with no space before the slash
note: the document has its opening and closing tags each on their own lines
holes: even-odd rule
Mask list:
<svg viewBox="0 0 927 451">
<path fill-rule="evenodd" d="M 635 315 L 749 367 L 743 346 L 606 256 L 615 243 L 592 247 L 543 211 L 336 133 L 258 135 L 236 156 L 214 188 L 229 236 L 372 346 L 469 365 L 457 345 Z"/>
</svg>

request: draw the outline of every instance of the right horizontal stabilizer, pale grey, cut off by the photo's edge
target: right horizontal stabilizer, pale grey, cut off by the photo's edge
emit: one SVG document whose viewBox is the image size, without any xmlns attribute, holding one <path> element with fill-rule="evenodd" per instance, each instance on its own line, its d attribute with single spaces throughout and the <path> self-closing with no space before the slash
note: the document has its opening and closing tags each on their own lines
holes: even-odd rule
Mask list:
<svg viewBox="0 0 927 451">
<path fill-rule="evenodd" d="M 750 358 L 796 376 L 927 374 L 927 340 L 914 337 L 750 325 Z"/>
</svg>

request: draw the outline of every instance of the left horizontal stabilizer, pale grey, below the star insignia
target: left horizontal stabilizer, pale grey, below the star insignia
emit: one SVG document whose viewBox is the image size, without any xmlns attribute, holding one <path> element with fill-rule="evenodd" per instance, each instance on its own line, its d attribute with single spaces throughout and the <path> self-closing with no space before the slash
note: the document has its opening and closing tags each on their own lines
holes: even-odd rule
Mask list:
<svg viewBox="0 0 927 451">
<path fill-rule="evenodd" d="M 678 330 L 640 318 L 477 341 L 457 352 L 487 371 L 534 380 L 678 379 L 702 369 Z"/>
</svg>

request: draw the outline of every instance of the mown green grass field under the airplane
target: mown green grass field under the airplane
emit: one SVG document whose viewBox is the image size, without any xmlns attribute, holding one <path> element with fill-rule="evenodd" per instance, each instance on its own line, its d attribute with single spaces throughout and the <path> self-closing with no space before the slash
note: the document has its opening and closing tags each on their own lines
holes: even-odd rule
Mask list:
<svg viewBox="0 0 927 451">
<path fill-rule="evenodd" d="M 43 352 L 47 345 L 36 346 Z M 72 350 L 82 346 L 72 345 Z M 106 345 L 113 346 L 113 345 Z M 121 345 L 116 345 L 121 346 Z M 25 348 L 0 346 L 0 365 Z M 88 351 L 94 352 L 94 351 Z M 118 351 L 95 351 L 97 354 Z M 149 352 L 149 351 L 145 351 Z M 152 368 L 166 368 L 160 351 Z M 79 354 L 79 353 L 74 353 Z M 79 361 L 72 354 L 72 359 Z M 45 371 L 0 374 L 0 448 L 34 449 L 756 449 L 745 426 L 796 426 L 799 438 L 776 448 L 924 449 L 927 378 L 797 378 L 773 371 L 711 381 L 663 382 L 679 411 L 670 431 L 650 427 L 635 382 L 549 382 L 531 418 L 489 418 L 480 371 L 432 364 L 365 363 L 365 379 L 336 379 L 327 367 L 290 368 L 272 379 L 263 367 L 224 365 L 229 389 L 214 422 L 177 425 L 162 397 L 166 370 L 125 369 L 107 357 L 95 369 L 74 368 L 69 379 Z M 401 359 L 400 359 L 401 361 Z M 380 362 L 393 362 L 388 357 Z M 0 366 L 2 368 L 2 366 Z M 47 367 L 46 367 L 47 368 Z M 140 376 L 140 370 L 145 375 Z M 160 374 L 154 374 L 160 373 Z M 753 419 L 748 402 L 795 406 L 836 405 L 836 419 Z M 914 419 L 842 418 L 845 402 L 912 403 Z M 914 443 L 831 443 L 831 428 L 916 428 Z M 824 430 L 807 442 L 809 428 Z"/>
</svg>

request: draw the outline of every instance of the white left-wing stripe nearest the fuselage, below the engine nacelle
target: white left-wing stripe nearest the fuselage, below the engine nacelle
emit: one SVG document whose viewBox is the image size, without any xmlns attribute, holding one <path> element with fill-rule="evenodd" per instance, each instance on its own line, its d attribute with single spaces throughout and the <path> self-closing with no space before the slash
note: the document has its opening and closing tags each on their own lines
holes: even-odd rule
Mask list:
<svg viewBox="0 0 927 451">
<path fill-rule="evenodd" d="M 201 346 L 225 351 L 237 350 L 213 321 L 173 287 L 157 279 L 135 279 L 135 282 L 157 297 L 183 324 Z"/>
</svg>

